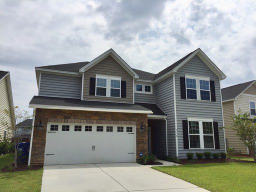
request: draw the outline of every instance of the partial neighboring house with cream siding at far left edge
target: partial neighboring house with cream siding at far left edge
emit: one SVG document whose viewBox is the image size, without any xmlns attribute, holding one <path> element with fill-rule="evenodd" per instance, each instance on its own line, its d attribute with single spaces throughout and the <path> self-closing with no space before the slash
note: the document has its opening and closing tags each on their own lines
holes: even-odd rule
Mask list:
<svg viewBox="0 0 256 192">
<path fill-rule="evenodd" d="M 10 84 L 10 73 L 8 71 L 0 70 L 0 139 L 9 137 L 7 134 L 7 127 L 3 123 L 12 123 L 12 116 L 9 112 L 13 112 L 13 100 Z"/>
</svg>

